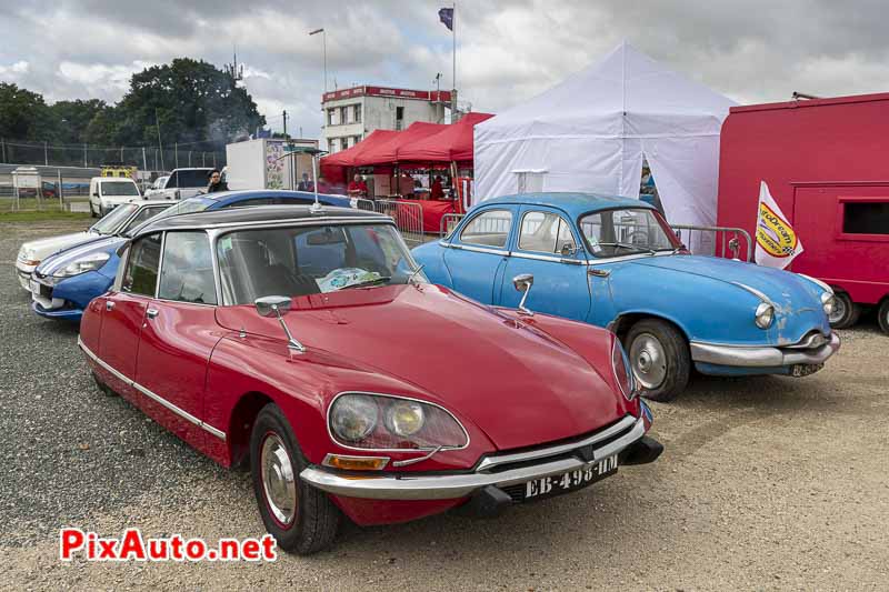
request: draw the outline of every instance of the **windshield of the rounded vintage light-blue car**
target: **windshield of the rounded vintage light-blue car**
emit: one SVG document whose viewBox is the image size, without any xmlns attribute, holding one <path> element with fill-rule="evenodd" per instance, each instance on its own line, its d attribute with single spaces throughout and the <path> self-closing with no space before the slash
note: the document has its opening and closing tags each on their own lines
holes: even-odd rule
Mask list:
<svg viewBox="0 0 889 592">
<path fill-rule="evenodd" d="M 580 231 L 596 257 L 672 251 L 681 245 L 653 210 L 627 208 L 587 214 Z"/>
</svg>

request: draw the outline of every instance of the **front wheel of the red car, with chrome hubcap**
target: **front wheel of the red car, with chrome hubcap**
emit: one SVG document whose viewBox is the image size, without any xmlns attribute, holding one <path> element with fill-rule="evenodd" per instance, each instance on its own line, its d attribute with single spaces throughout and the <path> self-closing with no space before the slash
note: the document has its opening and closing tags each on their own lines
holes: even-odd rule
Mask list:
<svg viewBox="0 0 889 592">
<path fill-rule="evenodd" d="M 259 412 L 250 435 L 253 492 L 266 530 L 288 553 L 308 555 L 329 546 L 337 535 L 339 510 L 299 474 L 307 462 L 278 405 Z"/>
</svg>

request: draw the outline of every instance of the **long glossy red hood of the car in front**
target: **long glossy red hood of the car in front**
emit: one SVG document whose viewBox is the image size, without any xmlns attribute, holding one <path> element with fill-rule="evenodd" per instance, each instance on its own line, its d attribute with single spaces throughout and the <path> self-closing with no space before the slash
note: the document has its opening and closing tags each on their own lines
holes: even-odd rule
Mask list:
<svg viewBox="0 0 889 592">
<path fill-rule="evenodd" d="M 219 308 L 217 320 L 232 330 L 283 337 L 278 321 L 259 317 L 253 307 Z M 444 288 L 391 285 L 296 298 L 284 320 L 307 349 L 428 393 L 500 450 L 587 433 L 627 413 L 623 397 L 580 353 Z M 601 371 L 610 375 L 611 369 Z"/>
</svg>

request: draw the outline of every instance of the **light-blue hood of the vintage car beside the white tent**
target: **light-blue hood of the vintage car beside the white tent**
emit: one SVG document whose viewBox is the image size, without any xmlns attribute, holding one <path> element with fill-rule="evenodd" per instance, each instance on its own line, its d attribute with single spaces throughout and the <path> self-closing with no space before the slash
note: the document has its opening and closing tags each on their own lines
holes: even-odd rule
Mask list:
<svg viewBox="0 0 889 592">
<path fill-rule="evenodd" d="M 731 285 L 732 291 L 742 290 L 753 295 L 753 302 L 760 300 L 753 291 L 761 293 L 776 309 L 776 321 L 766 333 L 773 344 L 795 343 L 812 330 L 830 334 L 830 325 L 820 301 L 823 290 L 796 273 L 717 257 L 681 254 L 637 259 L 632 261 L 631 267 L 640 271 L 640 268 L 648 270 L 656 268 L 663 272 L 679 272 L 701 278 L 701 281 L 696 282 L 690 279 L 683 282 L 690 292 L 707 290 L 707 284 L 702 282 L 718 282 Z M 727 301 L 739 302 L 737 295 L 723 295 Z M 729 305 L 729 302 L 725 304 Z M 759 332 L 755 328 L 750 331 L 755 334 Z"/>
</svg>

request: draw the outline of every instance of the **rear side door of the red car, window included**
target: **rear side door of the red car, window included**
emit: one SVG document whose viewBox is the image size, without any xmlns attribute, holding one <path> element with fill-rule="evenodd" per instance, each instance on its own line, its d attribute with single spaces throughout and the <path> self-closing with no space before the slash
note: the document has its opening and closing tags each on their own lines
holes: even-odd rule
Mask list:
<svg viewBox="0 0 889 592">
<path fill-rule="evenodd" d="M 127 382 L 136 379 L 139 338 L 154 297 L 159 262 L 160 234 L 136 241 L 127 253 L 120 289 L 104 297 L 98 355 L 116 372 L 111 387 L 130 398 L 136 391 Z"/>
</svg>

